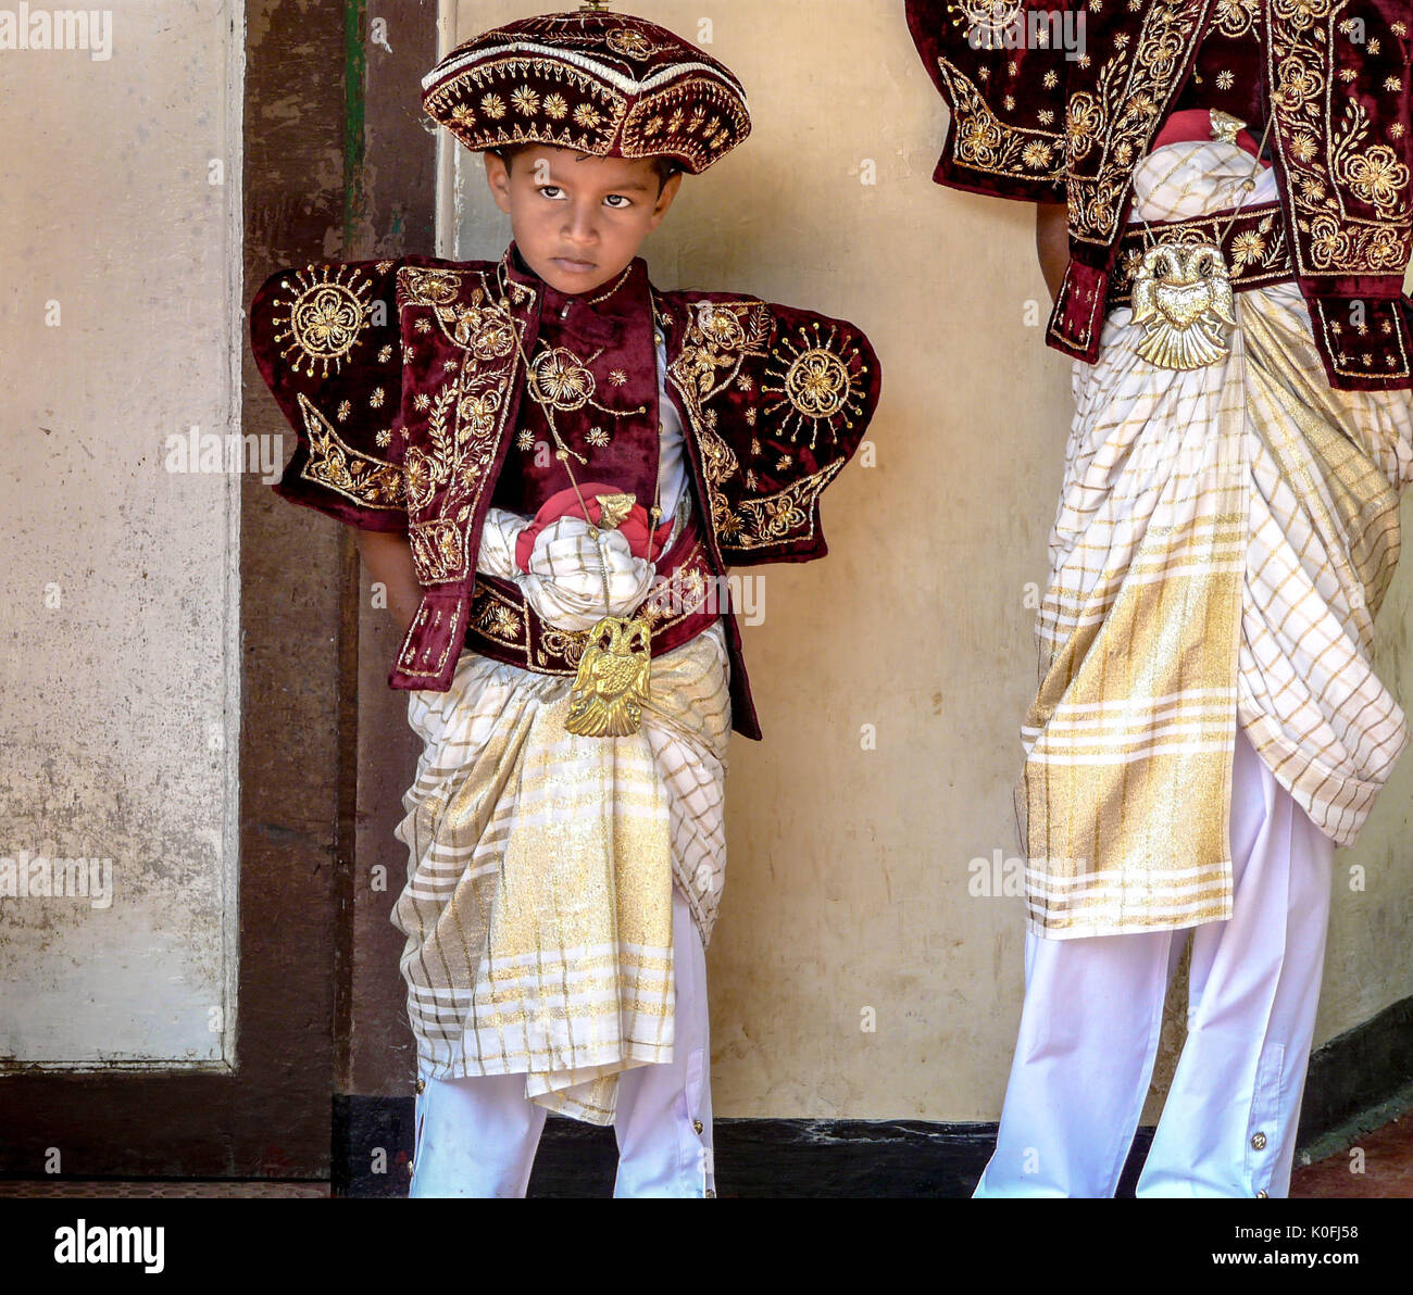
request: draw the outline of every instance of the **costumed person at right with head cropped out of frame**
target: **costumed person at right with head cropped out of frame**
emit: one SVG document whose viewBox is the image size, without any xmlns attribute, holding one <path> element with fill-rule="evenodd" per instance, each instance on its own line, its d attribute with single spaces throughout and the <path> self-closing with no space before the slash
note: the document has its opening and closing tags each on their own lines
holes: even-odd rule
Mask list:
<svg viewBox="0 0 1413 1295">
<path fill-rule="evenodd" d="M 976 1195 L 1113 1195 L 1191 931 L 1137 1195 L 1280 1196 L 1334 849 L 1409 741 L 1372 664 L 1413 476 L 1409 6 L 907 17 L 952 113 L 935 179 L 1039 203 L 1075 357 L 1022 727 L 1026 997 Z"/>
</svg>

